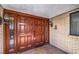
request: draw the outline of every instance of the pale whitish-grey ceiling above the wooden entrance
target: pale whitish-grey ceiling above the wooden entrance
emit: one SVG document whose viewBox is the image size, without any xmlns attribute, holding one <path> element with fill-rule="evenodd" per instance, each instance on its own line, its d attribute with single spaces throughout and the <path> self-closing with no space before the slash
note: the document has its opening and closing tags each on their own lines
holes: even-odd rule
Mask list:
<svg viewBox="0 0 79 59">
<path fill-rule="evenodd" d="M 2 4 L 6 9 L 51 18 L 79 7 L 79 4 Z"/>
</svg>

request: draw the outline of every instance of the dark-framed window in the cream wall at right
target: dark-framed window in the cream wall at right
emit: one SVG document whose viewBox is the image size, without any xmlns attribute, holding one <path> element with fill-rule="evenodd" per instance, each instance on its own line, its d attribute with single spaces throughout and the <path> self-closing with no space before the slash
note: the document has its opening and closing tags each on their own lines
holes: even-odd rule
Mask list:
<svg viewBox="0 0 79 59">
<path fill-rule="evenodd" d="M 79 11 L 70 14 L 70 35 L 79 35 Z"/>
</svg>

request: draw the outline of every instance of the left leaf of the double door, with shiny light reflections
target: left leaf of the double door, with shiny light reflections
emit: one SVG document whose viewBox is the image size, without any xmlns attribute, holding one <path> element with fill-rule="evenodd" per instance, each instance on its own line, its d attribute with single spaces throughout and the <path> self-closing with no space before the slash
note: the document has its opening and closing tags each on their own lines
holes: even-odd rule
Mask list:
<svg viewBox="0 0 79 59">
<path fill-rule="evenodd" d="M 30 19 L 26 18 L 26 17 L 22 17 L 23 21 L 21 21 L 21 18 L 19 16 L 18 18 L 18 37 L 22 36 L 18 38 L 18 41 L 20 43 L 18 43 L 19 48 L 18 50 L 20 51 L 21 49 L 24 48 L 29 48 L 32 47 L 32 42 L 33 42 L 33 21 L 31 21 Z M 20 49 L 21 48 L 21 49 Z"/>
</svg>

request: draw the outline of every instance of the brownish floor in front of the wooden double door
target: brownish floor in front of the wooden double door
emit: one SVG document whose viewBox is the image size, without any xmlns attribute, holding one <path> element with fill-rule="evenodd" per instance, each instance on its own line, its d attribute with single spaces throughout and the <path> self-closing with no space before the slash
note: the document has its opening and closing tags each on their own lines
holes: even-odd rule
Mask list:
<svg viewBox="0 0 79 59">
<path fill-rule="evenodd" d="M 66 54 L 66 53 L 56 47 L 47 44 L 41 47 L 24 51 L 22 52 L 22 54 Z"/>
</svg>

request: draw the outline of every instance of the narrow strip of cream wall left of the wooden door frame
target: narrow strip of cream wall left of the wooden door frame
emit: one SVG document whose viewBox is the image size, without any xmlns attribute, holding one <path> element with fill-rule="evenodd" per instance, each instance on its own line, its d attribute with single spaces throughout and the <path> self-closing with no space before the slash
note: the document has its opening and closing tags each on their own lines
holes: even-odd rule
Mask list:
<svg viewBox="0 0 79 59">
<path fill-rule="evenodd" d="M 0 7 L 0 16 L 3 15 L 3 8 Z M 0 54 L 3 53 L 3 24 L 0 25 Z"/>
</svg>

